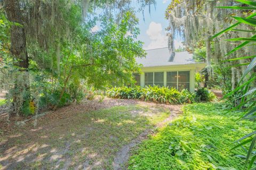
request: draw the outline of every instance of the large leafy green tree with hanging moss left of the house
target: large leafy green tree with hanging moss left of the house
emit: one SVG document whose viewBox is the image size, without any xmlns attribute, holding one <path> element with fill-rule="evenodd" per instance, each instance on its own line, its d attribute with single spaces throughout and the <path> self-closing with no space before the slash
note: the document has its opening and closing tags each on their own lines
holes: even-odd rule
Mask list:
<svg viewBox="0 0 256 170">
<path fill-rule="evenodd" d="M 138 2 L 140 11 L 155 3 Z M 74 96 L 71 91 L 76 93 L 82 83 L 103 88 L 114 80 L 131 81 L 131 72 L 139 69 L 135 57 L 145 56 L 145 52 L 142 43 L 135 41 L 138 20 L 130 4 L 130 1 L 4 1 L 6 13 L 22 16 L 15 20 L 11 19 L 12 15 L 8 18 L 22 33 L 14 39 L 22 40 L 23 58 L 18 61 L 26 61 L 26 73 L 29 72 L 26 79 L 21 79 L 10 67 L 7 69 L 12 87 L 7 99 L 17 106 L 15 112 L 33 114 L 29 104 L 44 103 L 43 98 L 56 109 L 65 103 L 62 100 L 70 101 L 70 96 Z M 95 15 L 94 10 L 98 8 L 104 13 Z M 102 29 L 91 32 L 96 22 L 102 24 Z M 13 29 L 10 31 L 11 35 L 15 33 Z M 132 36 L 126 36 L 127 32 Z M 19 88 L 18 83 L 22 84 Z M 31 96 L 20 91 L 30 91 Z M 16 100 L 17 96 L 24 99 Z"/>
</svg>

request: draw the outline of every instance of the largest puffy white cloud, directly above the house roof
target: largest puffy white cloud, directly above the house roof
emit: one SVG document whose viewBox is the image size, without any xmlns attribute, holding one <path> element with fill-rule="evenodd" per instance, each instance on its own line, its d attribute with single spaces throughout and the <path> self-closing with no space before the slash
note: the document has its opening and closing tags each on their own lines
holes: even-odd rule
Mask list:
<svg viewBox="0 0 256 170">
<path fill-rule="evenodd" d="M 163 48 L 167 47 L 167 36 L 163 32 L 162 24 L 151 22 L 146 31 L 151 42 L 145 49 Z"/>
</svg>

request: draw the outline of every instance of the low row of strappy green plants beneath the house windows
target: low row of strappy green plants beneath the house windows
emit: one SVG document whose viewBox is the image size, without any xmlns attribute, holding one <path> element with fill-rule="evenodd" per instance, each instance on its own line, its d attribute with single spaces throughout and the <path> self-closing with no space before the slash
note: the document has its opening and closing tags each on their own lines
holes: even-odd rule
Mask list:
<svg viewBox="0 0 256 170">
<path fill-rule="evenodd" d="M 207 95 L 207 97 L 205 95 Z M 154 86 L 154 87 L 148 86 L 145 88 L 141 88 L 139 86 L 115 87 L 107 91 L 107 96 L 112 98 L 143 99 L 145 101 L 156 101 L 158 103 L 166 103 L 166 104 L 194 103 L 198 100 L 211 101 L 214 96 L 211 92 L 205 95 L 204 95 L 204 98 L 202 98 L 196 93 L 193 94 L 189 92 L 187 89 L 178 91 L 174 88 L 170 89 L 168 87 L 158 87 L 158 86 Z"/>
</svg>

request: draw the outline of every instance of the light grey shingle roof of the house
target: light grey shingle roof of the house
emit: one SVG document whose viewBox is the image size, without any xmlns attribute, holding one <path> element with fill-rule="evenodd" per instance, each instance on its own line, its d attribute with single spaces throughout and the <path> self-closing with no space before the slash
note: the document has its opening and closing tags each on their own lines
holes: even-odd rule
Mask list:
<svg viewBox="0 0 256 170">
<path fill-rule="evenodd" d="M 193 54 L 188 52 L 175 53 L 173 61 L 170 62 L 171 54 L 168 47 L 149 49 L 146 52 L 146 58 L 136 58 L 137 63 L 142 64 L 144 67 L 196 64 L 193 60 Z"/>
</svg>

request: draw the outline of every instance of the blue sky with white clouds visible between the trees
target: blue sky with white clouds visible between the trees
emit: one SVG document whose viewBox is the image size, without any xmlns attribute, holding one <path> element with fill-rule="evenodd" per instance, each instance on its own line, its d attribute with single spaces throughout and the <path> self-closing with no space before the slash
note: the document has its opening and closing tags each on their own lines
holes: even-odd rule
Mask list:
<svg viewBox="0 0 256 170">
<path fill-rule="evenodd" d="M 150 6 L 150 13 L 148 6 L 146 6 L 144 11 L 144 19 L 143 20 L 143 13 L 138 12 L 136 16 L 139 19 L 139 29 L 140 35 L 138 36 L 138 40 L 142 41 L 143 49 L 155 49 L 155 48 L 163 48 L 167 47 L 168 38 L 166 36 L 165 28 L 168 27 L 169 21 L 165 19 L 165 9 L 170 4 L 171 0 L 156 0 L 156 6 Z M 134 0 L 134 6 L 137 5 L 136 1 Z M 92 31 L 99 30 L 99 26 L 95 25 Z M 175 48 L 182 47 L 181 40 L 175 39 L 174 40 Z"/>
</svg>

